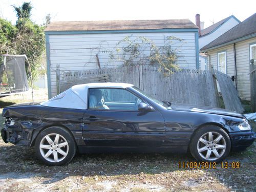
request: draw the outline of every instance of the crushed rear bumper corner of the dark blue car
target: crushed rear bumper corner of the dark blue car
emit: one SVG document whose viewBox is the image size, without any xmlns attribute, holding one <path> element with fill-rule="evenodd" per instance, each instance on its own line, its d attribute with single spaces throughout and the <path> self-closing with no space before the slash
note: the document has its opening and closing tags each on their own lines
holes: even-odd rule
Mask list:
<svg viewBox="0 0 256 192">
<path fill-rule="evenodd" d="M 9 125 L 4 126 L 1 130 L 1 135 L 5 143 L 13 143 L 15 145 L 21 145 L 29 147 L 31 143 L 31 136 L 33 130 L 24 129 L 20 126 Z"/>
</svg>

